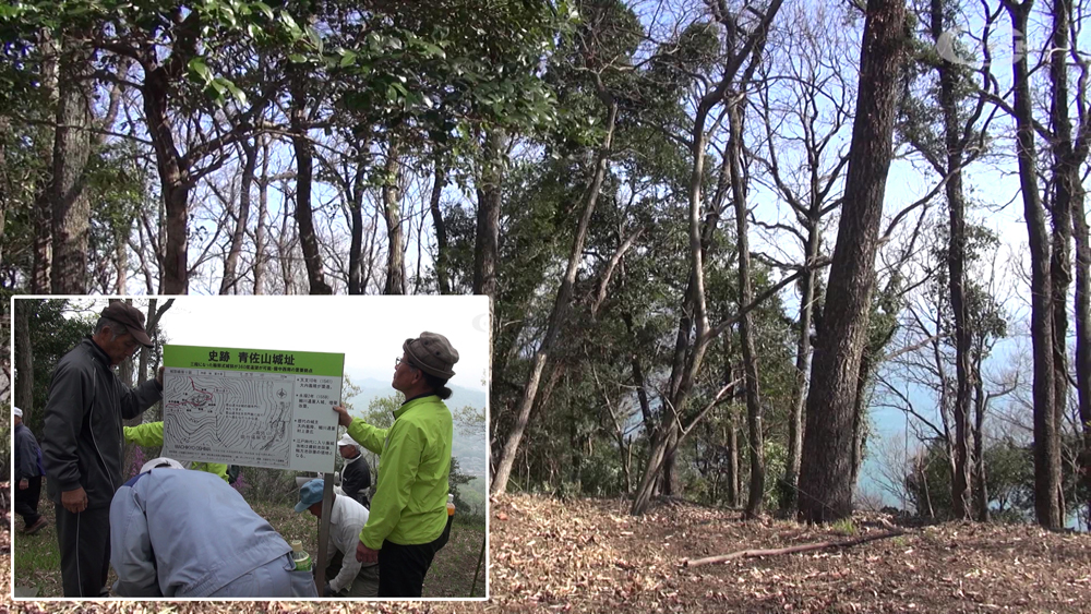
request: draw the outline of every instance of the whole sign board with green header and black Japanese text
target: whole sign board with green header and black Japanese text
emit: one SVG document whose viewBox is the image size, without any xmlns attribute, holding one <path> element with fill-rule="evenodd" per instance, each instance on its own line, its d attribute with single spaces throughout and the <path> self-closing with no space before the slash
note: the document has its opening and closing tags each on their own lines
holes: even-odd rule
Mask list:
<svg viewBox="0 0 1091 614">
<path fill-rule="evenodd" d="M 345 354 L 164 346 L 163 455 L 334 470 Z"/>
</svg>

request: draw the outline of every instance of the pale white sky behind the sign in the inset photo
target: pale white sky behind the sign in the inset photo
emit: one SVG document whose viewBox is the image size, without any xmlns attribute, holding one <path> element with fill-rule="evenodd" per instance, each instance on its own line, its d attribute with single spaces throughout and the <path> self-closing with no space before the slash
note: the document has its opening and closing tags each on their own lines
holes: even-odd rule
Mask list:
<svg viewBox="0 0 1091 614">
<path fill-rule="evenodd" d="M 147 299 L 133 304 L 146 311 Z M 175 297 L 160 326 L 181 346 L 344 353 L 346 373 L 380 381 L 393 377 L 401 344 L 430 330 L 458 351 L 452 385 L 484 390 L 488 381 L 487 297 Z"/>
</svg>

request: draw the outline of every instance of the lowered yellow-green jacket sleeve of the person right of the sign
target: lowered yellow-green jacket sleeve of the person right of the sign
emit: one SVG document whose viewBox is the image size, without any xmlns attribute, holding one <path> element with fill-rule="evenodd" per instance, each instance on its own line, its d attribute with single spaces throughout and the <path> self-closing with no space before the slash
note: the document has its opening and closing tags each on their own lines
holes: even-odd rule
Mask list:
<svg viewBox="0 0 1091 614">
<path fill-rule="evenodd" d="M 375 482 L 375 496 L 371 499 L 371 514 L 360 531 L 363 545 L 372 550 L 382 549 L 386 535 L 401 520 L 401 511 L 409 505 L 409 494 L 417 481 L 423 443 L 424 434 L 416 424 L 395 422 L 389 429 L 389 442 L 382 453 L 379 481 Z"/>
</svg>

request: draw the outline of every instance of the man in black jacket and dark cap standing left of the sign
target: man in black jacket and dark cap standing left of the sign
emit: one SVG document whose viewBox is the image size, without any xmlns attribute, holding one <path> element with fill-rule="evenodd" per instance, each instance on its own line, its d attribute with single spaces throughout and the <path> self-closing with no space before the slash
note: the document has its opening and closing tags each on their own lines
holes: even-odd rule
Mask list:
<svg viewBox="0 0 1091 614">
<path fill-rule="evenodd" d="M 163 398 L 163 368 L 135 388 L 112 368 L 152 347 L 144 314 L 123 302 L 103 310 L 95 334 L 57 363 L 46 401 L 41 452 L 57 508 L 64 597 L 105 597 L 110 568 L 110 502 L 121 478 L 121 420 Z"/>
</svg>

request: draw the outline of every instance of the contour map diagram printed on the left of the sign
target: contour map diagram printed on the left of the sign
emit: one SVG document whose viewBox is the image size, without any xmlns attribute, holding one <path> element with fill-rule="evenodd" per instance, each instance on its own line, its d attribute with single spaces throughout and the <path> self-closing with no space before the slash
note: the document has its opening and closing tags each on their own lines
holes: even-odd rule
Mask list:
<svg viewBox="0 0 1091 614">
<path fill-rule="evenodd" d="M 164 426 L 180 452 L 288 467 L 295 377 L 197 370 L 179 375 L 166 381 Z"/>
</svg>

